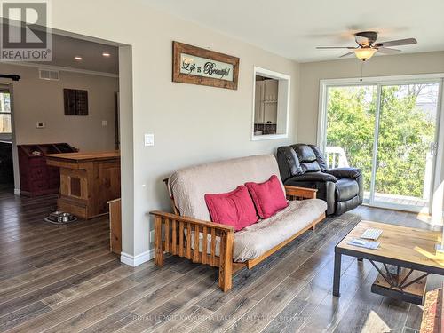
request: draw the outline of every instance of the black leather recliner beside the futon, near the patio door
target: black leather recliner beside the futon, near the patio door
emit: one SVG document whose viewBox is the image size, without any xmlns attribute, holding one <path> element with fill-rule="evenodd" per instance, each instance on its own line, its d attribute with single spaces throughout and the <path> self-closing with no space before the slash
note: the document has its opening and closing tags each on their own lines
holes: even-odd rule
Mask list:
<svg viewBox="0 0 444 333">
<path fill-rule="evenodd" d="M 327 214 L 343 214 L 363 200 L 360 169 L 327 169 L 319 147 L 297 144 L 279 147 L 279 170 L 284 185 L 316 188 L 317 197 L 327 202 Z"/>
</svg>

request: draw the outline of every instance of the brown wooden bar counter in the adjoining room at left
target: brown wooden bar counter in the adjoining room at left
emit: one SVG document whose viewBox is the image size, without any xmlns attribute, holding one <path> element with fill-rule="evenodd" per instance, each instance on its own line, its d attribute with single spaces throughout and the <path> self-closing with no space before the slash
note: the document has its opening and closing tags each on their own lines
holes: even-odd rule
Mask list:
<svg viewBox="0 0 444 333">
<path fill-rule="evenodd" d="M 120 198 L 118 151 L 45 156 L 60 168 L 58 210 L 89 219 L 107 214 L 107 202 Z"/>
</svg>

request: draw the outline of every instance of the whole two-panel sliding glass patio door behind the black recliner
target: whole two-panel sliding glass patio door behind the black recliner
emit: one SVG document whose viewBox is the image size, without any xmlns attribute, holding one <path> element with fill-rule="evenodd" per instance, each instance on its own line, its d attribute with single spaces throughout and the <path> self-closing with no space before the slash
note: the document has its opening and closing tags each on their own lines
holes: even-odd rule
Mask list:
<svg viewBox="0 0 444 333">
<path fill-rule="evenodd" d="M 360 168 L 370 205 L 429 212 L 440 80 L 326 81 L 319 139 L 329 168 Z"/>
</svg>

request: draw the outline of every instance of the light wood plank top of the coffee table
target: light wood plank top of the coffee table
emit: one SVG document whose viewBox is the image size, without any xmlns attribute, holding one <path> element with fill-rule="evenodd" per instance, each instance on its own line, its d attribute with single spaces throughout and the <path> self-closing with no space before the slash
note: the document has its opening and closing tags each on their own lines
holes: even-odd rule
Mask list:
<svg viewBox="0 0 444 333">
<path fill-rule="evenodd" d="M 366 229 L 383 230 L 377 239 L 377 250 L 369 250 L 349 245 L 353 238 L 360 238 Z M 444 268 L 444 254 L 435 250 L 435 244 L 441 242 L 442 234 L 437 231 L 418 229 L 408 226 L 394 226 L 373 221 L 361 221 L 345 238 L 337 244 L 337 249 L 352 250 L 363 254 L 393 258 L 409 263 Z"/>
</svg>

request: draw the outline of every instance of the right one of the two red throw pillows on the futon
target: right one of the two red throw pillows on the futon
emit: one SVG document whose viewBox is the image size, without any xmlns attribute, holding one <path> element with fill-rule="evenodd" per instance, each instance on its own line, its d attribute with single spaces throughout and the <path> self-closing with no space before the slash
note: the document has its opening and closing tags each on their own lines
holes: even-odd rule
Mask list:
<svg viewBox="0 0 444 333">
<path fill-rule="evenodd" d="M 264 183 L 246 183 L 245 186 L 250 191 L 260 218 L 270 218 L 289 205 L 276 175 Z"/>
</svg>

